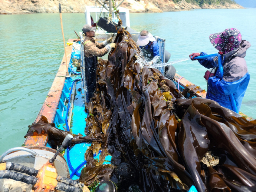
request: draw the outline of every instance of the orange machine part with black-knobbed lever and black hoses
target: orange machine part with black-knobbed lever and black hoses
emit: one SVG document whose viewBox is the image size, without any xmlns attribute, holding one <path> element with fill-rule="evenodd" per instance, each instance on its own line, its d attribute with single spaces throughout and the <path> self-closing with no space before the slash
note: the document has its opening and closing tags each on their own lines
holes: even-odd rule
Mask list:
<svg viewBox="0 0 256 192">
<path fill-rule="evenodd" d="M 73 181 L 72 179 L 58 175 L 55 165 L 58 166 L 58 161 L 55 159 L 58 157 L 59 152 L 73 139 L 72 135 L 67 135 L 62 142 L 62 145 L 55 152 L 52 158 L 48 158 L 47 162 L 41 166 L 39 170 L 35 168 L 27 167 L 25 165 L 20 165 L 18 163 L 1 163 L 0 164 L 0 179 L 4 179 L 3 190 L 0 191 L 9 192 L 11 191 L 22 191 L 33 189 L 35 192 L 45 191 L 54 192 L 55 190 L 62 190 L 66 192 L 82 192 L 88 191 L 87 187 L 84 187 L 83 183 L 78 181 Z M 40 148 L 40 147 L 37 147 Z M 37 153 L 39 156 L 40 153 Z M 56 162 L 56 163 L 55 163 Z M 55 165 L 53 166 L 53 163 Z M 67 170 L 68 171 L 68 170 Z M 24 175 L 27 174 L 27 175 Z M 16 183 L 6 182 L 6 180 L 14 180 Z M 19 183 L 17 183 L 19 182 Z M 22 183 L 20 183 L 22 182 Z M 32 186 L 31 186 L 32 185 Z M 83 189 L 81 189 L 83 188 Z"/>
</svg>

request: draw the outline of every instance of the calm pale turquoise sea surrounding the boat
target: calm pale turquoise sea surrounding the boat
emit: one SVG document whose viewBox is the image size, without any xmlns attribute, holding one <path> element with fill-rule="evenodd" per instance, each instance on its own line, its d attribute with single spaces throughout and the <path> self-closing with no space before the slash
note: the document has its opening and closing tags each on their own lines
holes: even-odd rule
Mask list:
<svg viewBox="0 0 256 192">
<path fill-rule="evenodd" d="M 256 118 L 256 9 L 130 13 L 131 27 L 166 39 L 170 61 L 190 53 L 217 53 L 209 35 L 234 27 L 252 46 L 246 62 L 250 83 L 241 111 Z M 83 13 L 63 14 L 66 42 L 85 24 Z M 63 57 L 59 14 L 0 15 L 0 155 L 21 146 L 39 112 Z M 174 64 L 177 73 L 207 88 L 197 61 Z"/>
</svg>

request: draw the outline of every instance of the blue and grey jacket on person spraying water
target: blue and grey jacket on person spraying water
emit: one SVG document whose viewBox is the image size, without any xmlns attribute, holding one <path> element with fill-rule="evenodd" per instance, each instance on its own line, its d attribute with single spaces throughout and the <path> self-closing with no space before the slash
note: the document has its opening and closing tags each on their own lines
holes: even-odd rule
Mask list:
<svg viewBox="0 0 256 192">
<path fill-rule="evenodd" d="M 215 76 L 208 79 L 207 99 L 218 102 L 221 106 L 233 110 L 229 95 L 233 94 L 237 110 L 240 110 L 244 93 L 247 89 L 250 75 L 245 62 L 246 50 L 251 44 L 245 40 L 239 47 L 222 56 L 223 78 L 220 76 L 218 57 L 198 59 L 198 62 L 207 69 L 216 67 Z M 204 52 L 200 54 L 207 55 Z"/>
</svg>

